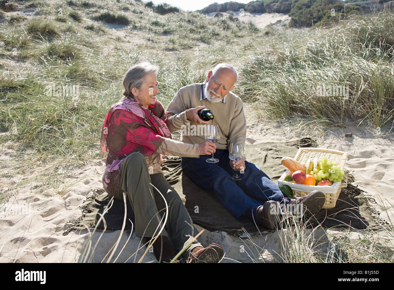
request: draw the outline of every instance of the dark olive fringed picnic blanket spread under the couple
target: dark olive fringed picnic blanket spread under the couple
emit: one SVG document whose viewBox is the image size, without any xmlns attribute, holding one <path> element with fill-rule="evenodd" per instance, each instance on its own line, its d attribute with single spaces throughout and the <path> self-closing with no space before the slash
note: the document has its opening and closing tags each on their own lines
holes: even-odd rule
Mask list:
<svg viewBox="0 0 394 290">
<path fill-rule="evenodd" d="M 293 157 L 300 147 L 316 147 L 316 142 L 310 138 L 301 138 L 288 142 L 245 145 L 245 156 L 249 162 L 261 168 L 276 182 L 285 170 L 281 165 L 281 158 L 283 156 Z M 266 230 L 260 226 L 256 228 L 255 223 L 245 216 L 239 220 L 232 216 L 214 193 L 201 189 L 182 172 L 180 157 L 168 157 L 162 168 L 165 178 L 182 198 L 196 225 L 210 231 L 224 231 L 236 235 L 242 235 L 244 230 L 249 234 L 256 233 L 258 230 Z M 351 226 L 352 228 L 365 229 L 387 224 L 371 206 L 375 200 L 366 195 L 357 185 L 351 184 L 354 178 L 351 172 L 345 171 L 345 182 L 343 182 L 335 208 L 320 211 L 314 219 L 310 219 L 310 226 L 321 224 L 327 228 L 348 228 Z M 195 206 L 198 206 L 198 210 Z M 123 200 L 113 199 L 104 189 L 93 190 L 93 193 L 87 196 L 80 208 L 82 215 L 78 219 L 66 223 L 65 226 L 71 227 L 65 230 L 63 235 L 67 235 L 73 229 L 86 229 L 86 226 L 94 228 L 104 210 L 107 211 L 104 215 L 106 230 L 120 230 L 122 228 L 125 213 Z M 129 202 L 126 210 L 125 230 L 131 230 L 132 223 L 134 223 L 134 213 Z M 104 222 L 100 221 L 97 228 L 103 230 L 105 228 Z"/>
</svg>

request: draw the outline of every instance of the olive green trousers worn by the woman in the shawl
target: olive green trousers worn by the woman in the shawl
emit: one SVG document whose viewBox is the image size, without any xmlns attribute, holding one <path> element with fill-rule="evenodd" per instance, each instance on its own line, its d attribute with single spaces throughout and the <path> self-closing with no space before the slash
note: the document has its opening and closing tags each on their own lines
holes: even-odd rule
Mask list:
<svg viewBox="0 0 394 290">
<path fill-rule="evenodd" d="M 172 240 L 177 251 L 182 250 L 198 234 L 178 193 L 162 173 L 149 175 L 145 157 L 141 153 L 133 152 L 122 162 L 119 189 L 119 195 L 114 197 L 123 200 L 122 192 L 126 193 L 126 201 L 130 201 L 136 218 L 136 236 L 156 236 L 163 226 L 164 219 L 162 222 L 160 220 L 164 215 L 167 215 L 167 221 L 162 235 Z M 168 213 L 158 191 L 167 202 Z M 197 246 L 202 246 L 198 238 L 188 247 L 188 251 Z"/>
</svg>

